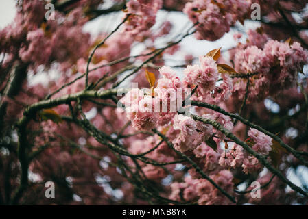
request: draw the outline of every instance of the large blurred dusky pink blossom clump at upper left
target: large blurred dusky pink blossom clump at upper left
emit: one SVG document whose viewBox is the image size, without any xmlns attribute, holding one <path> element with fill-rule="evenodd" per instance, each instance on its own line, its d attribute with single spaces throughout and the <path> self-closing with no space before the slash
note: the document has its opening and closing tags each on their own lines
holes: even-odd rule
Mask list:
<svg viewBox="0 0 308 219">
<path fill-rule="evenodd" d="M 90 34 L 82 31 L 86 18 L 82 18 L 82 10 L 77 8 L 69 16 L 56 13 L 56 20 L 33 27 L 27 33 L 27 42 L 22 45 L 19 55 L 23 62 L 31 62 L 38 66 L 52 61 L 61 63 L 62 70 L 71 68 L 80 57 L 86 57 Z M 36 21 L 40 21 L 36 19 Z M 62 21 L 58 25 L 58 21 Z"/>
</svg>

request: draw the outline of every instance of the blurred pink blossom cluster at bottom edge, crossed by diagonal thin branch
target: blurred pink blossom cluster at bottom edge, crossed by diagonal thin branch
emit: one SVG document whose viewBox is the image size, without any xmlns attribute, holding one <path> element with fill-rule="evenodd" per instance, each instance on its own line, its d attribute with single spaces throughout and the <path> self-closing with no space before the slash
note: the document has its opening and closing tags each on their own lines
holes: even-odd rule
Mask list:
<svg viewBox="0 0 308 219">
<path fill-rule="evenodd" d="M 221 170 L 210 176 L 215 183 L 227 192 L 232 193 L 233 175 L 228 170 Z M 182 197 L 181 197 L 182 194 Z M 197 201 L 198 205 L 230 205 L 230 200 L 206 179 L 185 177 L 182 183 L 171 184 L 170 199 L 176 201 Z"/>
</svg>

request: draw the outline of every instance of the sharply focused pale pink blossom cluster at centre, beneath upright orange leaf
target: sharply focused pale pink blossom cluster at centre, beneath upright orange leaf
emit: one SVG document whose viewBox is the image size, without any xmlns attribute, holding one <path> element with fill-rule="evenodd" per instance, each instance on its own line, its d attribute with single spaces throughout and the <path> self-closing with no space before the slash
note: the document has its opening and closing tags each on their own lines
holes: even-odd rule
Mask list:
<svg viewBox="0 0 308 219">
<path fill-rule="evenodd" d="M 185 97 L 182 82 L 169 67 L 163 66 L 159 71 L 163 77 L 158 80 L 154 96 L 151 91 L 145 93 L 133 88 L 121 99 L 128 119 L 137 130 L 152 129 L 157 124 L 169 123 L 178 107 L 182 107 Z"/>
</svg>

